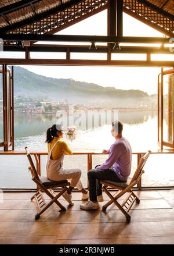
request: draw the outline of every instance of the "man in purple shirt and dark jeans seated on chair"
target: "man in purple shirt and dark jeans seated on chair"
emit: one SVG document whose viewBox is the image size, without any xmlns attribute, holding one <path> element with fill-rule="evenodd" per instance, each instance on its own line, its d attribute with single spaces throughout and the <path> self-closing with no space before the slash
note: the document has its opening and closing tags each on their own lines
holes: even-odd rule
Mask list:
<svg viewBox="0 0 174 256">
<path fill-rule="evenodd" d="M 99 202 L 104 201 L 100 180 L 126 182 L 128 179 L 131 173 L 132 150 L 129 141 L 122 137 L 122 130 L 122 122 L 113 122 L 111 133 L 115 142 L 109 150 L 103 150 L 103 154 L 109 154 L 103 165 L 97 165 L 96 169 L 88 172 L 90 200 L 82 204 L 81 209 L 99 209 Z"/>
</svg>

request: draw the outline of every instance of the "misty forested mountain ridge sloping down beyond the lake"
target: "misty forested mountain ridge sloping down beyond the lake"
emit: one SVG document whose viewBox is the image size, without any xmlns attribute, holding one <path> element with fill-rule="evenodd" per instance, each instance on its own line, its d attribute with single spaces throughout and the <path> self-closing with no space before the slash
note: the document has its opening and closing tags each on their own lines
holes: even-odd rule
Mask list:
<svg viewBox="0 0 174 256">
<path fill-rule="evenodd" d="M 125 106 L 149 99 L 144 91 L 102 87 L 73 79 L 53 79 L 19 66 L 14 66 L 14 95 L 111 106 Z"/>
</svg>

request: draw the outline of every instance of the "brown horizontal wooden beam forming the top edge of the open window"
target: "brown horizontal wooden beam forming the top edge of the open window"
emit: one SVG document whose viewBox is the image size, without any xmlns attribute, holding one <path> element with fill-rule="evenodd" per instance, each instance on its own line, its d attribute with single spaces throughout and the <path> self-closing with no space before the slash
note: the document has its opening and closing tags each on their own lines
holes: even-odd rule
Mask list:
<svg viewBox="0 0 174 256">
<path fill-rule="evenodd" d="M 107 61 L 86 59 L 0 59 L 8 65 L 52 65 L 52 66 L 151 66 L 172 67 L 173 61 Z"/>
</svg>

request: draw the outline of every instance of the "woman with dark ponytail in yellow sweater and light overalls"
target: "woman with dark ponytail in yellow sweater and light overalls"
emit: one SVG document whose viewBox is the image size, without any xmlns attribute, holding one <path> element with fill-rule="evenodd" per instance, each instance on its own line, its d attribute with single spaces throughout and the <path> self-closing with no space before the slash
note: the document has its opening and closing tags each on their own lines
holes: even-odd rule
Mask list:
<svg viewBox="0 0 174 256">
<path fill-rule="evenodd" d="M 61 125 L 53 125 L 46 131 L 46 143 L 48 143 L 48 162 L 46 164 L 46 174 L 49 180 L 59 182 L 61 180 L 70 179 L 70 187 L 63 194 L 63 197 L 73 205 L 71 191 L 77 187 L 82 192 L 82 200 L 89 198 L 89 193 L 84 189 L 80 181 L 80 169 L 63 169 L 64 155 L 72 155 L 73 152 L 65 141 L 60 139 L 63 137 L 63 127 Z"/>
</svg>

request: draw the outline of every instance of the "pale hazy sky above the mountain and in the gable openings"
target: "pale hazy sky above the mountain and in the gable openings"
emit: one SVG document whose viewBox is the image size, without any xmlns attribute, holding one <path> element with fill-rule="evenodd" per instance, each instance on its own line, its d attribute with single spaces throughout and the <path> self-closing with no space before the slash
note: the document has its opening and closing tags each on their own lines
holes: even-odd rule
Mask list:
<svg viewBox="0 0 174 256">
<path fill-rule="evenodd" d="M 57 34 L 107 35 L 107 11 L 89 17 Z M 124 35 L 161 37 L 162 34 L 124 13 Z M 86 44 L 86 43 L 85 43 Z M 50 55 L 50 54 L 49 54 Z M 93 54 L 92 54 L 93 55 Z M 34 58 L 34 54 L 31 55 Z M 43 55 L 41 55 L 42 58 Z M 82 56 L 82 55 L 80 55 Z M 79 58 L 79 55 L 77 56 Z M 157 93 L 157 67 L 23 66 L 34 73 L 54 78 L 71 78 L 101 86 L 139 89 Z"/>
</svg>

